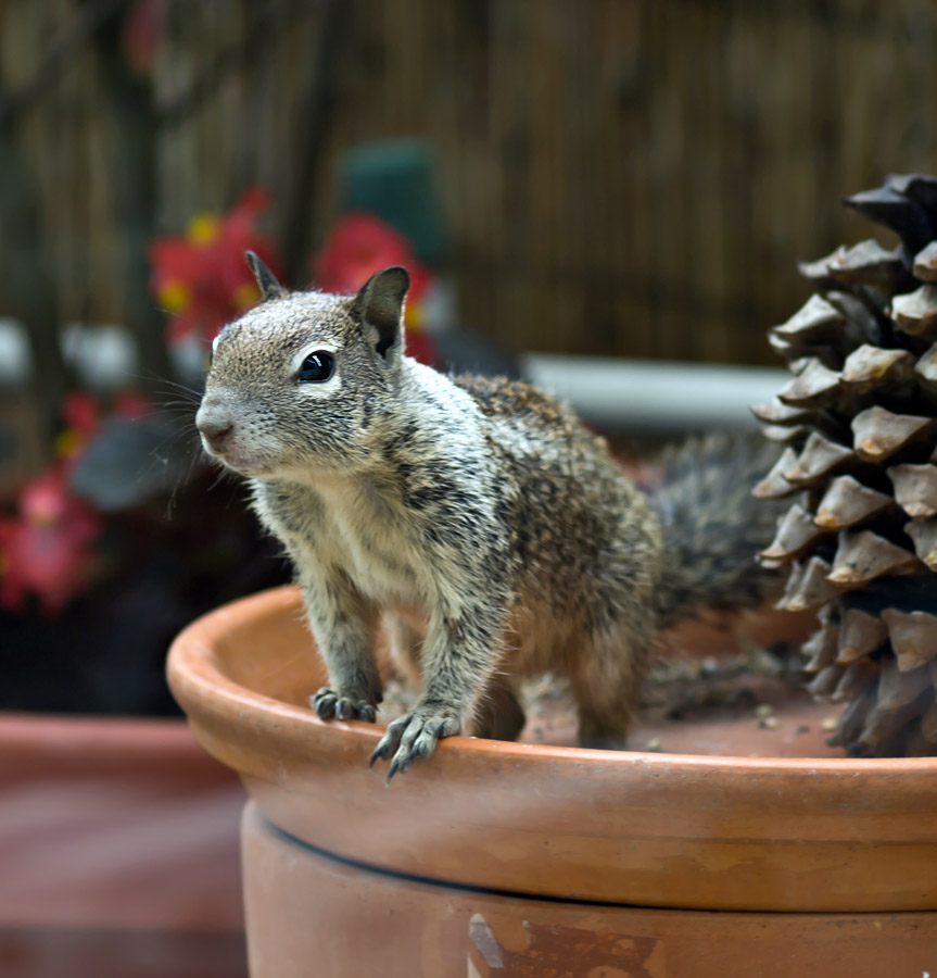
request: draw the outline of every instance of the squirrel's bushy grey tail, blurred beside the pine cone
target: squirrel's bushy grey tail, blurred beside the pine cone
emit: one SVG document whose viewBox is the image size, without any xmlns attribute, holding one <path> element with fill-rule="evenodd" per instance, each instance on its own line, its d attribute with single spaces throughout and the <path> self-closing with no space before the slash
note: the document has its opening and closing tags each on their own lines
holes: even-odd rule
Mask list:
<svg viewBox="0 0 937 978">
<path fill-rule="evenodd" d="M 664 455 L 663 481 L 650 494 L 663 536 L 660 625 L 780 594 L 780 575 L 755 556 L 771 543 L 786 505 L 751 496 L 776 457 L 759 432 L 710 435 Z"/>
</svg>

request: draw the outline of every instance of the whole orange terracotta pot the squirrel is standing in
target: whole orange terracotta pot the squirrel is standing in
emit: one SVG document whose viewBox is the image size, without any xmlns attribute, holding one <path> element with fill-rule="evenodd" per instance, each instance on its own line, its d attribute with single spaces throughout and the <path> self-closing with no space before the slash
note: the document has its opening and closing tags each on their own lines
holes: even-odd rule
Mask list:
<svg viewBox="0 0 937 978">
<path fill-rule="evenodd" d="M 254 800 L 254 978 L 937 971 L 935 760 L 831 757 L 818 707 L 812 740 L 774 741 L 801 756 L 452 738 L 385 788 L 380 728 L 304 706 L 322 679 L 289 588 L 169 655 L 197 738 Z"/>
</svg>

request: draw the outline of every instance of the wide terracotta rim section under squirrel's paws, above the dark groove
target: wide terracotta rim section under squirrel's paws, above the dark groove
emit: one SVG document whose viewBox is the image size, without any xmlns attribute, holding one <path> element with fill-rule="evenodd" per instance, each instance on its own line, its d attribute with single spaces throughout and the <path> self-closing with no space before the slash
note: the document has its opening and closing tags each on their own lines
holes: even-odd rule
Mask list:
<svg viewBox="0 0 937 978">
<path fill-rule="evenodd" d="M 801 756 L 451 738 L 385 788 L 367 766 L 381 727 L 325 723 L 305 705 L 324 674 L 295 589 L 194 623 L 168 673 L 197 738 L 266 818 L 356 863 L 644 907 L 937 910 L 937 760 L 828 756 L 818 723 L 828 707 L 803 714 L 812 738 L 776 739 L 778 754 Z M 751 753 L 757 734 L 743 734 L 736 750 Z M 692 727 L 682 737 L 693 745 Z M 811 748 L 826 756 L 802 756 Z"/>
</svg>

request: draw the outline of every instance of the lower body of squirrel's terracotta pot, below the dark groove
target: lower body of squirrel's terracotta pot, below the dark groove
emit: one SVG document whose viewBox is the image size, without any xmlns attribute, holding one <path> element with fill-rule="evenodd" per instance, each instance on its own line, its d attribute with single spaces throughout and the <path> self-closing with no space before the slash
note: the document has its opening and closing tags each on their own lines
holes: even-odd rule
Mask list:
<svg viewBox="0 0 937 978">
<path fill-rule="evenodd" d="M 241 837 L 252 978 L 882 978 L 933 974 L 928 913 L 763 914 L 536 900 Z"/>
</svg>

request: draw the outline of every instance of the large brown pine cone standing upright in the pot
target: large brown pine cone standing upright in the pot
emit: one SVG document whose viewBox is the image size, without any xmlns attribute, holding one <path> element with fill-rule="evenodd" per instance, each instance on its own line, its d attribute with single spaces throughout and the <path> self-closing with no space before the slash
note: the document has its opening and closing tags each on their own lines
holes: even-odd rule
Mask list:
<svg viewBox="0 0 937 978">
<path fill-rule="evenodd" d="M 761 560 L 816 609 L 810 690 L 847 704 L 831 744 L 937 754 L 937 177 L 845 201 L 897 231 L 800 272 L 818 290 L 769 334 L 794 374 L 756 415 L 786 448 L 756 496 L 793 497 Z"/>
</svg>

